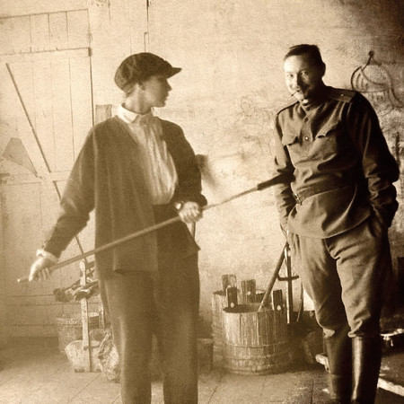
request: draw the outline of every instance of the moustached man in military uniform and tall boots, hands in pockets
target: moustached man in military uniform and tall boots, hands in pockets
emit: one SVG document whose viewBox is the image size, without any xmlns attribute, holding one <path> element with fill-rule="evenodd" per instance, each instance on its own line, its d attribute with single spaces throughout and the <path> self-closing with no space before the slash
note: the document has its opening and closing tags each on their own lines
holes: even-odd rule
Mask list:
<svg viewBox="0 0 404 404">
<path fill-rule="evenodd" d="M 319 48 L 290 48 L 284 69 L 295 101 L 276 119 L 281 227 L 323 329 L 331 402 L 373 403 L 398 165 L 369 102 L 323 83 Z"/>
</svg>

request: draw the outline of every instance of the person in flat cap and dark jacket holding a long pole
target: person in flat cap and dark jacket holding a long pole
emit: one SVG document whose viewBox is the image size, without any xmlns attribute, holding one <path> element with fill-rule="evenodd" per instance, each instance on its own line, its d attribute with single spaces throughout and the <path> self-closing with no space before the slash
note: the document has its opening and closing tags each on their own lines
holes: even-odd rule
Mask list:
<svg viewBox="0 0 404 404">
<path fill-rule="evenodd" d="M 180 72 L 151 53 L 127 57 L 115 83 L 126 100 L 118 115 L 92 128 L 61 200 L 61 214 L 30 280 L 51 266 L 95 210 L 96 247 L 180 215 L 157 233 L 95 256 L 101 298 L 119 352 L 122 401 L 151 402 L 153 334 L 162 360 L 166 403 L 198 402 L 198 245 L 185 223 L 198 221 L 206 198 L 195 154 L 181 128 L 154 117 Z"/>
</svg>

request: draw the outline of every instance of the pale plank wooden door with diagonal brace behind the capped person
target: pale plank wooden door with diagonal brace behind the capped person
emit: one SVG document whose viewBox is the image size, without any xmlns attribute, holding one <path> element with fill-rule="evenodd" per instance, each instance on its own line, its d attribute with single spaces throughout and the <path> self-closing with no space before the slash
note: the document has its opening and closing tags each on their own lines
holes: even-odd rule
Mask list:
<svg viewBox="0 0 404 404">
<path fill-rule="evenodd" d="M 13 336 L 55 335 L 58 316 L 80 311 L 53 294 L 78 278 L 78 265 L 45 283 L 16 279 L 28 274 L 55 223 L 59 195 L 92 127 L 87 11 L 2 19 L 0 38 L 0 321 Z M 80 239 L 92 247 L 91 224 Z M 64 256 L 78 253 L 72 242 Z"/>
</svg>

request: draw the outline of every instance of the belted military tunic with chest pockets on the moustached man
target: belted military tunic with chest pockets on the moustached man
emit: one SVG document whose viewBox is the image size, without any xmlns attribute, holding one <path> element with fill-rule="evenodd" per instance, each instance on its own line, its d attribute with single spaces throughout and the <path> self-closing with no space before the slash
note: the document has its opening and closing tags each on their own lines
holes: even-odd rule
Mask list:
<svg viewBox="0 0 404 404">
<path fill-rule="evenodd" d="M 276 189 L 284 229 L 327 238 L 370 215 L 391 225 L 398 165 L 373 108 L 357 92 L 325 87 L 310 104 L 280 110 L 275 168 L 285 179 Z"/>
</svg>

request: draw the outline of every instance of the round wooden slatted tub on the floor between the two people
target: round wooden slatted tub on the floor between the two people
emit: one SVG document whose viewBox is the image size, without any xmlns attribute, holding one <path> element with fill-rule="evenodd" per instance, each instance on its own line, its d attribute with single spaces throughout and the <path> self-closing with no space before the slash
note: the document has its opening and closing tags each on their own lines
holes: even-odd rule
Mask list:
<svg viewBox="0 0 404 404">
<path fill-rule="evenodd" d="M 258 308 L 242 304 L 224 309 L 224 368 L 231 373 L 277 373 L 290 363 L 285 309 Z"/>
</svg>

